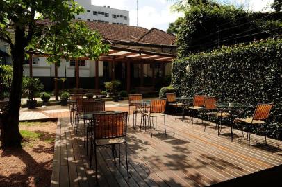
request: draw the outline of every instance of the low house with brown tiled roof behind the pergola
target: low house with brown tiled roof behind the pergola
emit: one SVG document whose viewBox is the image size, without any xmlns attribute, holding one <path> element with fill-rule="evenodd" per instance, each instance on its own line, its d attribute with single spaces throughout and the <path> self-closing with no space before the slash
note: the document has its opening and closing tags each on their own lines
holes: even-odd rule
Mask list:
<svg viewBox="0 0 282 187">
<path fill-rule="evenodd" d="M 48 24 L 49 21 L 42 22 Z M 53 79 L 58 74 L 58 78 L 67 78 L 65 88 L 103 88 L 103 82 L 121 80 L 122 89 L 130 91 L 135 87 L 161 87 L 171 74 L 172 60 L 176 57 L 174 35 L 157 28 L 83 22 L 100 33 L 104 43 L 110 44 L 107 55 L 103 54 L 97 61 L 88 57 L 62 59 L 56 69 L 47 63 L 46 57 L 33 54 L 24 62 L 24 75 L 40 78 L 47 90 L 54 89 Z"/>
</svg>

